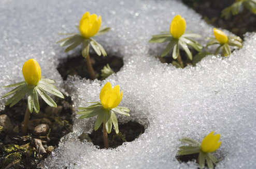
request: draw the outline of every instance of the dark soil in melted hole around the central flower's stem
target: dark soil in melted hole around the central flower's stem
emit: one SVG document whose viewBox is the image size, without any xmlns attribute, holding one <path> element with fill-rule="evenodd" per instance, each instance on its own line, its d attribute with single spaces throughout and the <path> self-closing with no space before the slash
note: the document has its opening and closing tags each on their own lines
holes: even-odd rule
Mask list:
<svg viewBox="0 0 256 169">
<path fill-rule="evenodd" d="M 122 145 L 124 142 L 131 142 L 134 141 L 136 138 L 139 137 L 140 134 L 144 133 L 145 128 L 143 125 L 137 122 L 128 122 L 124 124 L 119 124 L 119 134 L 117 135 L 115 130 L 108 134 L 108 142 L 110 148 L 116 148 Z M 94 145 L 99 146 L 99 148 L 104 148 L 103 142 L 103 134 L 102 134 L 102 126 L 99 127 L 97 131 L 94 131 L 89 134 Z"/>
</svg>

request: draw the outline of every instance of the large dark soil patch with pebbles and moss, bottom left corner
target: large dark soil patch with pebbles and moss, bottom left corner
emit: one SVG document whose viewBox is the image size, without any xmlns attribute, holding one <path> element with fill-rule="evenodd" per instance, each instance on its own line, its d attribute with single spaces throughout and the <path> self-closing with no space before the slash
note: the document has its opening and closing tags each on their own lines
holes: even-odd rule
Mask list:
<svg viewBox="0 0 256 169">
<path fill-rule="evenodd" d="M 30 121 L 32 127 L 27 130 L 27 136 L 22 136 L 19 130 L 0 131 L 0 168 L 36 168 L 37 164 L 47 158 L 53 149 L 58 147 L 60 139 L 67 133 L 72 132 L 73 103 L 70 97 L 65 99 L 56 98 L 56 104 L 60 111 L 49 111 L 48 105 L 39 100 L 39 113 L 32 112 Z M 27 100 L 22 99 L 13 107 L 6 106 L 0 115 L 8 115 L 13 126 L 21 126 L 27 106 Z M 48 109 L 46 113 L 46 109 Z M 30 123 L 30 122 L 29 122 Z M 37 136 L 33 132 L 34 126 L 47 124 L 49 130 L 46 134 Z M 34 140 L 41 141 L 46 153 L 39 153 Z M 16 161 L 15 161 L 16 160 Z M 17 162 L 16 165 L 12 164 Z"/>
</svg>

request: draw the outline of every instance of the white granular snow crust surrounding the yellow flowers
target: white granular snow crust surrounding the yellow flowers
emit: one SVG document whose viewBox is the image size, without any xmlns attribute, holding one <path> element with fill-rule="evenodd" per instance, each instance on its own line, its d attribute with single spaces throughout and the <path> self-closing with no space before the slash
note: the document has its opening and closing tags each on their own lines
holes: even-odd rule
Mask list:
<svg viewBox="0 0 256 169">
<path fill-rule="evenodd" d="M 63 81 L 56 70 L 68 54 L 56 41 L 59 32 L 77 32 L 86 11 L 102 15 L 102 25 L 112 27 L 97 37 L 107 53 L 123 57 L 124 66 L 104 81 L 68 77 Z M 23 80 L 22 65 L 35 58 L 42 75 L 56 80 L 62 92 L 72 96 L 75 108 L 99 101 L 99 92 L 109 81 L 123 90 L 120 106 L 130 108 L 131 117 L 118 116 L 119 123 L 130 120 L 147 129 L 133 142 L 115 149 L 97 149 L 79 141 L 82 132 L 91 132 L 95 118 L 75 120 L 43 168 L 197 168 L 195 162 L 179 163 L 175 156 L 183 137 L 201 141 L 214 130 L 222 145 L 216 168 L 255 168 L 256 159 L 256 34 L 248 33 L 243 49 L 230 57 L 208 56 L 196 67 L 176 69 L 160 63 L 166 44 L 148 44 L 152 35 L 168 31 L 176 14 L 187 22 L 187 30 L 203 36 L 212 26 L 179 1 L 39 1 L 0 2 L 0 86 Z M 225 31 L 225 33 L 230 34 Z M 0 90 L 0 95 L 8 89 Z M 7 99 L 1 99 L 1 108 Z"/>
</svg>

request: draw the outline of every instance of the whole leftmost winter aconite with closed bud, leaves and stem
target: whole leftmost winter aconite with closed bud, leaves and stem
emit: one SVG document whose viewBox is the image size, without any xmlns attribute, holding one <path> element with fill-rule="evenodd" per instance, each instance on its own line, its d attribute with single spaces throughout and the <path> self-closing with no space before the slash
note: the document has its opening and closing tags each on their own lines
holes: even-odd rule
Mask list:
<svg viewBox="0 0 256 169">
<path fill-rule="evenodd" d="M 16 88 L 6 93 L 4 96 L 2 96 L 2 98 L 13 94 L 13 96 L 10 97 L 5 103 L 6 106 L 10 105 L 10 107 L 12 107 L 16 105 L 25 95 L 27 95 L 27 109 L 25 112 L 24 121 L 21 125 L 21 133 L 25 135 L 27 123 L 30 119 L 30 113 L 32 113 L 33 110 L 38 113 L 40 109 L 37 94 L 39 94 L 41 98 L 45 100 L 45 102 L 51 107 L 57 107 L 57 105 L 46 92 L 61 98 L 64 98 L 64 96 L 53 85 L 53 83 L 55 83 L 54 80 L 41 78 L 41 68 L 35 59 L 29 59 L 23 64 L 22 74 L 25 81 L 4 86 L 5 88 Z"/>
</svg>

